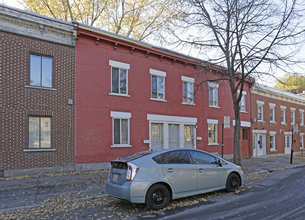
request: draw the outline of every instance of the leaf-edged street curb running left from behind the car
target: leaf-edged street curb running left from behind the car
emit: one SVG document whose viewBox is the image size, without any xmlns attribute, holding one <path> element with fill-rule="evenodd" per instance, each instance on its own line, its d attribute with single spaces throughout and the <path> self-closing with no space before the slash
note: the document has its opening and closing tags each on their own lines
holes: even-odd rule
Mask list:
<svg viewBox="0 0 305 220">
<path fill-rule="evenodd" d="M 82 197 L 82 198 L 77 198 L 73 200 L 65 200 L 63 202 L 50 202 L 50 203 L 39 203 L 39 204 L 33 204 L 33 205 L 23 205 L 23 206 L 17 206 L 17 207 L 10 207 L 10 208 L 0 208 L 0 213 L 4 213 L 7 211 L 18 211 L 18 210 L 23 210 L 23 209 L 31 209 L 31 208 L 37 208 L 40 206 L 44 205 L 52 205 L 52 204 L 62 204 L 62 203 L 68 203 L 68 202 L 77 202 L 77 201 L 85 201 L 85 200 L 92 200 L 92 199 L 100 199 L 103 197 L 109 196 L 107 193 L 103 195 L 98 195 L 98 196 L 88 196 L 88 197 Z"/>
</svg>

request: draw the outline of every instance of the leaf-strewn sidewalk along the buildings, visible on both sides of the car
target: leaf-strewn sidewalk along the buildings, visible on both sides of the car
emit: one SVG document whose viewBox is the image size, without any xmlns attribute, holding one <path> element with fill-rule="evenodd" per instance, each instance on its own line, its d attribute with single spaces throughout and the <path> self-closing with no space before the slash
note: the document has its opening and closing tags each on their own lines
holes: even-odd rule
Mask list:
<svg viewBox="0 0 305 220">
<path fill-rule="evenodd" d="M 304 166 L 305 156 L 303 156 L 303 160 L 298 158 L 300 155 L 294 156 L 292 164 L 289 155 L 243 159 L 242 167 L 246 174 L 253 174 Z M 14 180 L 2 179 L 0 180 L 0 213 L 56 203 L 57 200 L 52 199 L 56 196 L 64 196 L 65 201 L 104 197 L 107 196 L 104 185 L 107 178 L 108 173 L 96 172 L 51 177 L 39 175 Z"/>
</svg>

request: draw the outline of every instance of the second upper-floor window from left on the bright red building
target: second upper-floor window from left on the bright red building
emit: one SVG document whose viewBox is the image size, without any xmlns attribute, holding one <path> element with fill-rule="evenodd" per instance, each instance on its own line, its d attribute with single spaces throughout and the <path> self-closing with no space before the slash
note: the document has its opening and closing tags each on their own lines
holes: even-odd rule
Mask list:
<svg viewBox="0 0 305 220">
<path fill-rule="evenodd" d="M 164 79 L 166 77 L 166 72 L 149 69 L 149 73 L 152 78 L 152 100 L 164 100 Z"/>
</svg>

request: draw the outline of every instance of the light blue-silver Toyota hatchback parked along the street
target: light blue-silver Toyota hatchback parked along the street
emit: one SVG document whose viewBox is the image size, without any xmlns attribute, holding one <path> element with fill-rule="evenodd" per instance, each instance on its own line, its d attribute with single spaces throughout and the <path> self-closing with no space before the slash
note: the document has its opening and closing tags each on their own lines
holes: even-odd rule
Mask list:
<svg viewBox="0 0 305 220">
<path fill-rule="evenodd" d="M 241 167 L 196 149 L 144 151 L 110 163 L 107 193 L 152 210 L 186 196 L 220 189 L 235 192 L 245 181 Z"/>
</svg>

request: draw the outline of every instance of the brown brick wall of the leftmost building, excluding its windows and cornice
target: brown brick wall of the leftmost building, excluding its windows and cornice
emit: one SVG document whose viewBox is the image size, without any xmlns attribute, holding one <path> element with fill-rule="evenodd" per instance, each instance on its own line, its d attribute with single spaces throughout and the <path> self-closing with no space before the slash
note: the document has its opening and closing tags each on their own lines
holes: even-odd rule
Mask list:
<svg viewBox="0 0 305 220">
<path fill-rule="evenodd" d="M 29 52 L 53 57 L 53 88 L 27 88 Z M 75 48 L 0 31 L 0 170 L 75 164 Z M 52 116 L 52 148 L 27 149 L 27 116 Z M 71 128 L 71 129 L 70 129 Z"/>
</svg>

